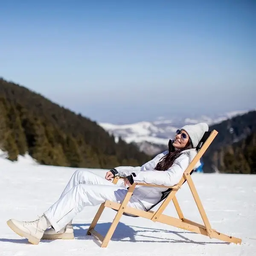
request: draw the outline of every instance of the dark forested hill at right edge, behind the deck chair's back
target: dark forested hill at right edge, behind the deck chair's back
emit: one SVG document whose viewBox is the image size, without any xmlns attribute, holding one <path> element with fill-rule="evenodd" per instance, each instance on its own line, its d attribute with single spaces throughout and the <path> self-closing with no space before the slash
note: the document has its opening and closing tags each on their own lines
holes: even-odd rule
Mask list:
<svg viewBox="0 0 256 256">
<path fill-rule="evenodd" d="M 218 135 L 204 154 L 204 172 L 256 173 L 256 111 L 210 126 Z"/>
</svg>

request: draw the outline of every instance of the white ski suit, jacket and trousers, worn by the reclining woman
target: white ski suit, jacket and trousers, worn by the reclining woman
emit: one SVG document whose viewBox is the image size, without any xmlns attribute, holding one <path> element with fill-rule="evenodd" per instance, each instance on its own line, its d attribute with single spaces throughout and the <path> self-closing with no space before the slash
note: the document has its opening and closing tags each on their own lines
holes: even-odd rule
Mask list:
<svg viewBox="0 0 256 256">
<path fill-rule="evenodd" d="M 183 172 L 195 157 L 196 150 L 193 148 L 183 151 L 183 154 L 166 171 L 154 170 L 157 163 L 166 154 L 168 154 L 168 151 L 158 154 L 141 167 L 116 167 L 115 170 L 118 172 L 116 175 L 125 177 L 132 175 L 134 182 L 174 186 L 180 181 Z M 195 168 L 199 166 L 200 162 L 197 163 Z M 138 186 L 134 189 L 128 206 L 147 210 L 160 200 L 164 191 L 166 191 L 165 188 Z M 115 185 L 99 175 L 85 170 L 77 170 L 59 200 L 44 212 L 44 215 L 55 231 L 58 232 L 85 206 L 96 206 L 106 200 L 120 203 L 127 192 L 127 188 Z"/>
</svg>

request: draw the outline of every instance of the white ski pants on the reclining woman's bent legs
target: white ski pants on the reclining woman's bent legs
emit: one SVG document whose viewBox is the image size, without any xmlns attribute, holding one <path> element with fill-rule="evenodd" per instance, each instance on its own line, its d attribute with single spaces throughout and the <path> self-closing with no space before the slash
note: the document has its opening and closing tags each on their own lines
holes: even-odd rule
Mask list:
<svg viewBox="0 0 256 256">
<path fill-rule="evenodd" d="M 93 172 L 77 170 L 72 175 L 61 197 L 44 215 L 56 232 L 61 230 L 81 212 L 85 206 L 96 206 L 106 200 L 120 203 L 128 189 L 113 184 Z M 143 204 L 133 195 L 128 202 L 129 207 L 145 210 Z"/>
</svg>

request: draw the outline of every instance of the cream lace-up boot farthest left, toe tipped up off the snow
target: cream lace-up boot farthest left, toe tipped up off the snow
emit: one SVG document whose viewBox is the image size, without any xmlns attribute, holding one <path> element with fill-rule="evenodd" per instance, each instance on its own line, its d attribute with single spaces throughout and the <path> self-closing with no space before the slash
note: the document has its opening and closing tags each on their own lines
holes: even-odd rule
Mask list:
<svg viewBox="0 0 256 256">
<path fill-rule="evenodd" d="M 7 224 L 16 234 L 26 237 L 32 244 L 39 244 L 40 239 L 44 235 L 44 230 L 51 226 L 44 215 L 35 221 L 16 221 L 15 219 L 10 219 L 7 221 Z"/>
</svg>

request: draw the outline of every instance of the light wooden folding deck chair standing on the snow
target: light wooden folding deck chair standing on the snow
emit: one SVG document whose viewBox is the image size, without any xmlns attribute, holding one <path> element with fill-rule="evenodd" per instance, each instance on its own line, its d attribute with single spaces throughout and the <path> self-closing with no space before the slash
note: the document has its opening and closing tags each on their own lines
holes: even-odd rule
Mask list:
<svg viewBox="0 0 256 256">
<path fill-rule="evenodd" d="M 178 227 L 180 229 L 183 230 L 188 230 L 194 233 L 198 233 L 204 236 L 209 236 L 209 238 L 215 238 L 215 239 L 219 239 L 228 243 L 235 243 L 235 244 L 241 244 L 241 239 L 238 239 L 236 237 L 232 237 L 232 236 L 227 236 L 224 235 L 222 233 L 219 233 L 218 231 L 212 229 L 209 220 L 207 218 L 206 212 L 204 210 L 204 207 L 201 203 L 201 200 L 198 196 L 198 192 L 195 188 L 195 184 L 192 181 L 192 177 L 191 174 L 193 172 L 194 166 L 195 164 L 198 162 L 198 160 L 203 156 L 204 152 L 207 150 L 207 148 L 209 147 L 209 145 L 212 143 L 212 140 L 214 140 L 214 138 L 216 137 L 216 135 L 218 134 L 217 131 L 213 130 L 213 131 L 208 131 L 204 134 L 202 140 L 200 141 L 200 143 L 198 144 L 197 150 L 198 153 L 195 156 L 195 158 L 192 160 L 192 162 L 189 164 L 189 166 L 187 167 L 187 169 L 185 170 L 185 172 L 183 173 L 183 177 L 181 178 L 180 182 L 176 185 L 176 186 L 172 186 L 172 187 L 167 187 L 167 186 L 158 186 L 158 185 L 154 185 L 154 184 L 145 184 L 145 183 L 133 183 L 132 186 L 129 187 L 127 195 L 125 196 L 124 200 L 122 201 L 121 204 L 118 204 L 116 202 L 111 202 L 111 201 L 105 201 L 105 203 L 102 203 L 101 206 L 99 207 L 98 212 L 96 213 L 95 217 L 93 218 L 93 221 L 87 231 L 87 235 L 93 235 L 96 237 L 96 239 L 99 239 L 102 244 L 101 247 L 107 247 L 108 246 L 108 242 L 110 241 L 116 226 L 120 220 L 120 218 L 122 217 L 122 215 L 128 215 L 131 217 L 143 217 L 143 218 L 147 218 L 147 219 L 151 219 L 151 221 L 158 221 L 164 224 L 168 224 L 174 227 Z M 119 178 L 124 178 L 124 177 L 119 177 L 116 176 L 113 179 L 113 183 L 117 183 L 117 181 L 119 180 Z M 178 204 L 177 198 L 175 196 L 175 194 L 177 193 L 177 191 L 181 188 L 181 186 L 183 185 L 184 182 L 188 183 L 189 188 L 192 192 L 193 198 L 195 200 L 195 203 L 198 207 L 198 210 L 200 212 L 201 218 L 203 219 L 204 225 L 203 224 L 199 224 L 196 223 L 194 221 L 190 221 L 187 218 L 184 218 L 183 213 L 180 209 L 180 206 Z M 143 211 L 143 210 L 139 210 L 139 209 L 135 209 L 132 207 L 127 207 L 128 201 L 131 198 L 131 195 L 135 189 L 136 186 L 156 186 L 156 187 L 166 187 L 166 193 L 163 193 L 163 197 L 161 198 L 161 200 L 158 202 L 160 203 L 161 201 L 163 202 L 161 204 L 161 206 L 156 210 L 156 211 L 152 211 L 151 209 L 156 206 L 152 206 L 150 209 L 148 209 L 147 211 Z M 173 204 L 175 206 L 175 209 L 177 211 L 177 214 L 179 216 L 179 218 L 174 218 L 168 215 L 164 215 L 163 211 L 166 209 L 167 205 L 170 203 L 170 201 L 173 201 Z M 108 233 L 106 234 L 105 237 L 103 237 L 102 235 L 100 235 L 94 228 L 96 227 L 96 224 L 103 212 L 103 210 L 105 209 L 105 207 L 109 207 L 112 208 L 114 210 L 117 211 L 116 216 L 111 224 L 111 227 L 108 230 Z"/>
</svg>

